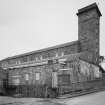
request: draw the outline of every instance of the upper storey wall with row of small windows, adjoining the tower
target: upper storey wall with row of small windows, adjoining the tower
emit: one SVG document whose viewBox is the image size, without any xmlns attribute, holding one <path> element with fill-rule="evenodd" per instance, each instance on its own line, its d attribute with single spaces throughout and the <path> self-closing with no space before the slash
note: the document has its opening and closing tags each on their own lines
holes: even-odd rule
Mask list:
<svg viewBox="0 0 105 105">
<path fill-rule="evenodd" d="M 79 42 L 66 43 L 54 48 L 43 49 L 29 54 L 20 55 L 18 57 L 10 57 L 1 62 L 3 68 L 14 67 L 14 65 L 27 64 L 31 62 L 40 62 L 64 55 L 80 52 Z"/>
</svg>

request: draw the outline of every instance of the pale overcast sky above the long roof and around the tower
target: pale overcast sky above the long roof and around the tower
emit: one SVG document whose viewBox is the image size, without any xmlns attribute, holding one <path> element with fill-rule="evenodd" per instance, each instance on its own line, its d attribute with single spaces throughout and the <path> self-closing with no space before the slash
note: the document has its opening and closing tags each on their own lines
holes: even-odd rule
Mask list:
<svg viewBox="0 0 105 105">
<path fill-rule="evenodd" d="M 78 39 L 78 9 L 96 2 L 105 56 L 105 0 L 0 0 L 0 60 Z"/>
</svg>

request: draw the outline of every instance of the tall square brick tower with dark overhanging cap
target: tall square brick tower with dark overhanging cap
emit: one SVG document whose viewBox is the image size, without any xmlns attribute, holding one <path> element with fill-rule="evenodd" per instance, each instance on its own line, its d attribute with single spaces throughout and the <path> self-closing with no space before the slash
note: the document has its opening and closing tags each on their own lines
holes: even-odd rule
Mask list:
<svg viewBox="0 0 105 105">
<path fill-rule="evenodd" d="M 81 52 L 88 52 L 82 59 L 91 63 L 99 63 L 99 39 L 101 12 L 96 3 L 78 10 L 78 40 Z"/>
</svg>

